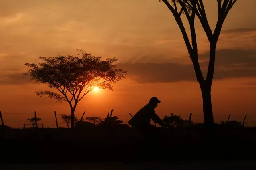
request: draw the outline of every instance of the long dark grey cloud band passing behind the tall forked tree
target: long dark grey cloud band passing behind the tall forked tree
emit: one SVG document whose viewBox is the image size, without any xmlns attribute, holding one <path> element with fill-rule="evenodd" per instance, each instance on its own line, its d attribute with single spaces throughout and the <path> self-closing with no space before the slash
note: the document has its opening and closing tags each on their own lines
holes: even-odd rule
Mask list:
<svg viewBox="0 0 256 170">
<path fill-rule="evenodd" d="M 206 75 L 209 52 L 200 55 L 202 72 Z M 216 51 L 214 79 L 256 77 L 256 51 L 222 49 Z M 137 83 L 196 81 L 192 64 L 182 63 L 120 63 L 127 77 Z"/>
</svg>

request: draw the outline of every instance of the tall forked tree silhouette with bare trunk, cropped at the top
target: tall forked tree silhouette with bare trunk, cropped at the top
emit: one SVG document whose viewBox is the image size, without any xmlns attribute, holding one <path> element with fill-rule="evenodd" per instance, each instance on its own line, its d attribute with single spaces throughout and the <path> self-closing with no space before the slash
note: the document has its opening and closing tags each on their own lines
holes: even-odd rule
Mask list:
<svg viewBox="0 0 256 170">
<path fill-rule="evenodd" d="M 203 0 L 171 0 L 171 3 L 168 0 L 160 1 L 163 1 L 169 8 L 181 30 L 185 45 L 189 53 L 189 57 L 193 63 L 197 81 L 200 84 L 203 98 L 204 123 L 207 127 L 211 127 L 214 124 L 214 118 L 212 114 L 211 87 L 214 77 L 216 45 L 224 20 L 226 19 L 228 12 L 237 0 L 216 0 L 218 5 L 218 20 L 214 31 L 212 31 L 210 25 L 208 24 Z M 187 35 L 187 30 L 184 27 L 183 20 L 181 19 L 182 14 L 186 16 L 189 23 L 191 42 L 189 40 L 189 36 Z M 206 78 L 204 78 L 202 75 L 202 71 L 198 62 L 198 45 L 195 29 L 196 17 L 200 20 L 202 28 L 204 29 L 204 32 L 206 33 L 210 43 L 210 56 Z"/>
</svg>

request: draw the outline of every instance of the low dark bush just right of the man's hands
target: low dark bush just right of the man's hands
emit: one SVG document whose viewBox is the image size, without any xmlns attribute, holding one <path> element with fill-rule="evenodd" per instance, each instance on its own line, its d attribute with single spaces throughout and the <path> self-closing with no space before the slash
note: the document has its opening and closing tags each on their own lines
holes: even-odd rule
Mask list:
<svg viewBox="0 0 256 170">
<path fill-rule="evenodd" d="M 173 115 L 173 116 L 165 116 L 163 118 L 163 122 L 167 124 L 169 127 L 180 127 L 180 126 L 188 126 L 189 121 L 183 120 L 181 116 Z M 193 122 L 191 121 L 191 125 Z"/>
</svg>

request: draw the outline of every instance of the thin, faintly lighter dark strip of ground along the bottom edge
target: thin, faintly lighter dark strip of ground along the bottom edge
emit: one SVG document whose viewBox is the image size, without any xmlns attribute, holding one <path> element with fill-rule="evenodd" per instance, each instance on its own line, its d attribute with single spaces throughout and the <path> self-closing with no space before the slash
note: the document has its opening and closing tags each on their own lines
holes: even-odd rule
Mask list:
<svg viewBox="0 0 256 170">
<path fill-rule="evenodd" d="M 255 160 L 97 164 L 0 164 L 0 170 L 255 170 Z"/>
</svg>

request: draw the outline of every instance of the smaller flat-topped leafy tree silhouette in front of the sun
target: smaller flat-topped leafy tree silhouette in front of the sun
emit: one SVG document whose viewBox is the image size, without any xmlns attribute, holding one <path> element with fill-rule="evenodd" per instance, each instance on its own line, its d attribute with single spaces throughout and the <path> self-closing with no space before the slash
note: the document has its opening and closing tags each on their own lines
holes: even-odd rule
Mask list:
<svg viewBox="0 0 256 170">
<path fill-rule="evenodd" d="M 117 58 L 103 60 L 83 50 L 78 55 L 57 55 L 56 57 L 39 57 L 42 63 L 25 63 L 30 81 L 48 84 L 55 91 L 36 91 L 40 97 L 48 95 L 59 103 L 67 101 L 71 109 L 71 128 L 74 128 L 74 113 L 77 104 L 94 87 L 113 90 L 113 83 L 125 78 L 123 69 L 114 65 Z"/>
</svg>

